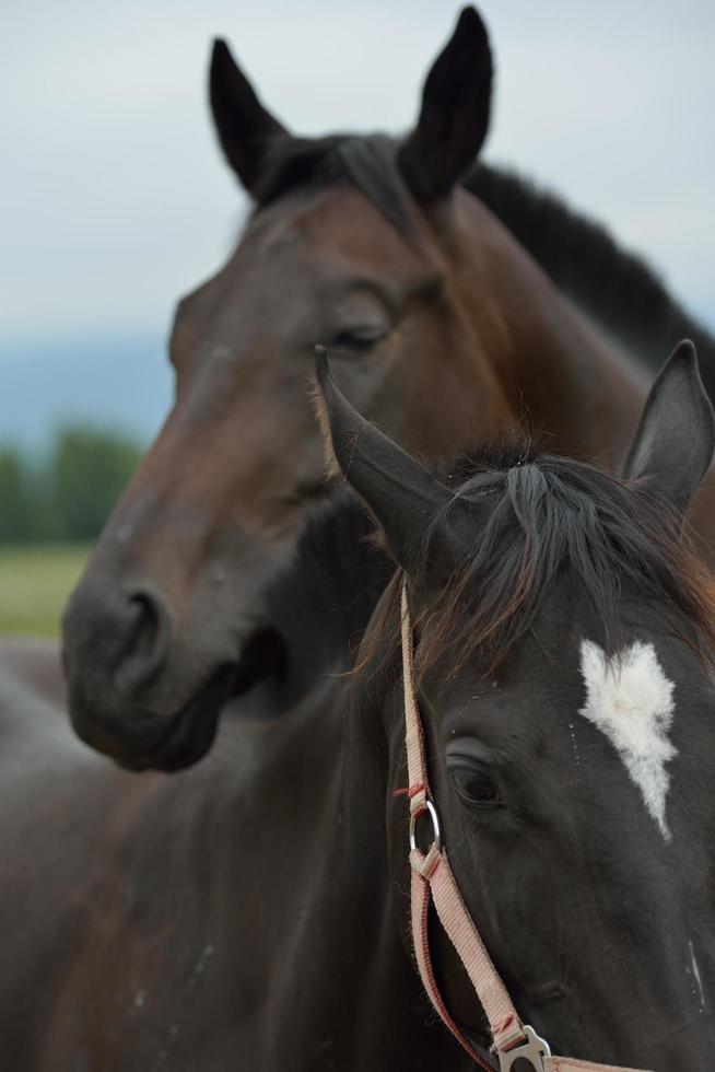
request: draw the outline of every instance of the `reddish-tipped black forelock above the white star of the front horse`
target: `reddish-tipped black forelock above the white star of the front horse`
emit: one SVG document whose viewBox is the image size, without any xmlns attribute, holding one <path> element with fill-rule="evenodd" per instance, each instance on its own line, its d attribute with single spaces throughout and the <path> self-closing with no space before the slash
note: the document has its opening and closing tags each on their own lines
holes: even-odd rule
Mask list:
<svg viewBox="0 0 715 1072">
<path fill-rule="evenodd" d="M 681 534 L 680 518 L 652 490 L 593 465 L 535 454 L 529 443 L 465 459 L 453 482 L 454 499 L 432 528 L 460 503 L 488 502 L 491 509 L 464 560 L 415 618 L 421 674 L 437 661 L 444 668 L 445 659 L 457 673 L 479 650 L 483 677 L 493 677 L 561 580 L 586 601 L 607 645 L 619 642 L 623 601 L 637 598 L 657 604 L 673 633 L 711 660 L 713 578 Z M 425 549 L 431 536 L 429 531 Z M 410 580 L 418 591 L 434 591 L 426 551 Z M 371 630 L 361 666 L 395 643 L 385 630 L 397 622 L 397 592 L 395 586 Z"/>
</svg>

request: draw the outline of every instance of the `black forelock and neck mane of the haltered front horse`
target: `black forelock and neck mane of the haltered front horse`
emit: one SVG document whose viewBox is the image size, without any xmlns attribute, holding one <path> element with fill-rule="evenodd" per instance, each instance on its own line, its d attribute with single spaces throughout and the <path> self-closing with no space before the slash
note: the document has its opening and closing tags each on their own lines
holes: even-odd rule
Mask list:
<svg viewBox="0 0 715 1072">
<path fill-rule="evenodd" d="M 681 536 L 680 520 L 647 488 L 593 465 L 536 454 L 529 442 L 460 459 L 446 480 L 455 490 L 448 510 L 470 500 L 492 509 L 441 596 L 415 622 L 421 631 L 430 619 L 421 669 L 448 655 L 457 671 L 479 646 L 485 676 L 493 674 L 565 575 L 602 625 L 607 643 L 618 640 L 621 598 L 636 596 L 668 614 L 687 643 L 696 642 L 707 657 L 715 651 L 713 578 Z M 397 646 L 395 563 L 374 536 L 374 522 L 356 496 L 335 492 L 312 515 L 268 594 L 270 619 L 295 663 L 298 692 L 301 683 L 319 674 L 352 667 L 390 579 L 395 583 L 359 668 L 378 650 Z M 426 573 L 413 580 L 431 587 Z"/>
</svg>

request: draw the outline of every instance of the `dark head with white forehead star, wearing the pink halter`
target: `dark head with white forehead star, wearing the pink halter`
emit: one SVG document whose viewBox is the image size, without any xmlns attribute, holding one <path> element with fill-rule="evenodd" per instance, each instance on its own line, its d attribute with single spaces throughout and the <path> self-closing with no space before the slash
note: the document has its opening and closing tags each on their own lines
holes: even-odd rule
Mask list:
<svg viewBox="0 0 715 1072">
<path fill-rule="evenodd" d="M 337 462 L 406 578 L 433 806 L 516 1009 L 555 1052 L 707 1068 L 715 637 L 681 525 L 715 430 L 692 345 L 656 381 L 621 478 L 521 450 L 449 488 L 356 413 L 325 359 L 320 378 Z M 409 890 L 396 678 L 370 691 L 392 886 Z M 430 935 L 453 1019 L 489 1045 L 455 949 Z"/>
</svg>

